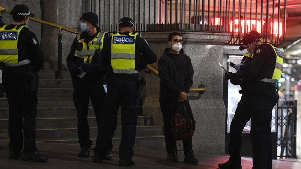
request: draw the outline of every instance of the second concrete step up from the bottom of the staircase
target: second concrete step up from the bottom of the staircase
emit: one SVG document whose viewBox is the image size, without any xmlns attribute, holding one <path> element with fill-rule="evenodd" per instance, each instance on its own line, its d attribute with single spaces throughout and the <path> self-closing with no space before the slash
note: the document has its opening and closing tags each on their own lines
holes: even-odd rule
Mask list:
<svg viewBox="0 0 301 169">
<path fill-rule="evenodd" d="M 114 137 L 121 137 L 121 126 L 117 126 Z M 97 127 L 90 127 L 90 139 L 96 140 Z M 159 125 L 138 125 L 136 136 L 162 136 L 163 126 Z M 0 138 L 8 138 L 8 131 L 1 130 Z M 61 142 L 76 143 L 78 141 L 77 128 L 61 128 L 61 129 L 36 129 L 36 140 L 39 142 Z M 74 142 L 75 141 L 75 142 Z"/>
</svg>

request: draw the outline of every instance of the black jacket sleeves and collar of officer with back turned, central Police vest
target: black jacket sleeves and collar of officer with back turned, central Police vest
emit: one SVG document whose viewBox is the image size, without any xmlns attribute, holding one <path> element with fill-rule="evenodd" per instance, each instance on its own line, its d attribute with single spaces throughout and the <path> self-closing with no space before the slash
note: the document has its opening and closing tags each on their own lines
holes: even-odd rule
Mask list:
<svg viewBox="0 0 301 169">
<path fill-rule="evenodd" d="M 119 32 L 119 34 L 127 35 L 130 32 Z M 111 67 L 111 46 L 112 38 L 108 37 L 103 44 L 103 49 L 101 51 L 101 64 L 106 67 L 108 72 L 112 72 Z M 145 69 L 146 64 L 155 63 L 158 60 L 158 55 L 156 52 L 150 48 L 144 38 L 137 35 L 135 41 L 135 69 L 140 71 Z M 128 75 L 128 74 L 126 74 Z"/>
</svg>

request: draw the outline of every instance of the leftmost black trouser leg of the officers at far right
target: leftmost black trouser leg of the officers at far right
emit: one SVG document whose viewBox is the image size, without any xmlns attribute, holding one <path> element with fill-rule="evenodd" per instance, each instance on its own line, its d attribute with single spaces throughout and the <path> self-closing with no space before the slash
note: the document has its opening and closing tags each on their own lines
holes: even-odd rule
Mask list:
<svg viewBox="0 0 301 169">
<path fill-rule="evenodd" d="M 230 127 L 230 141 L 228 145 L 229 160 L 234 166 L 241 166 L 241 135 L 246 123 L 251 118 L 252 96 L 249 93 L 242 93 L 237 104 L 234 117 Z"/>
</svg>

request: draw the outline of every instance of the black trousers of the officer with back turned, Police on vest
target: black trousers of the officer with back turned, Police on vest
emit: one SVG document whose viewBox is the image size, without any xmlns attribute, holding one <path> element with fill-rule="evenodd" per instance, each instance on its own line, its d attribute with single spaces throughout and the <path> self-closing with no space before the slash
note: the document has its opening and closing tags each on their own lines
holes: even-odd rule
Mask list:
<svg viewBox="0 0 301 169">
<path fill-rule="evenodd" d="M 112 138 L 117 127 L 117 112 L 121 105 L 120 160 L 129 161 L 134 155 L 136 138 L 138 96 L 138 77 L 135 80 L 114 80 L 108 83 L 108 91 L 103 107 L 103 116 L 98 128 L 94 155 L 103 158 L 112 147 Z"/>
</svg>

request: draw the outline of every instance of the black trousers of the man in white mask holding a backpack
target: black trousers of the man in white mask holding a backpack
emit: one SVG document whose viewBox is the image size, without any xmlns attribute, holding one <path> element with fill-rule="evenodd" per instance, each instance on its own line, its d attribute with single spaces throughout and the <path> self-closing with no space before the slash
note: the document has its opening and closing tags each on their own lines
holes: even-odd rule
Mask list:
<svg viewBox="0 0 301 169">
<path fill-rule="evenodd" d="M 185 105 L 189 105 L 189 102 Z M 177 150 L 176 140 L 172 138 L 172 127 L 171 127 L 171 117 L 176 110 L 176 102 L 160 101 L 160 108 L 163 114 L 164 123 L 164 137 L 166 143 L 166 151 L 169 153 L 172 149 Z M 186 106 L 190 109 L 190 105 Z M 182 140 L 184 151 L 192 150 L 192 137 L 189 139 Z"/>
</svg>

